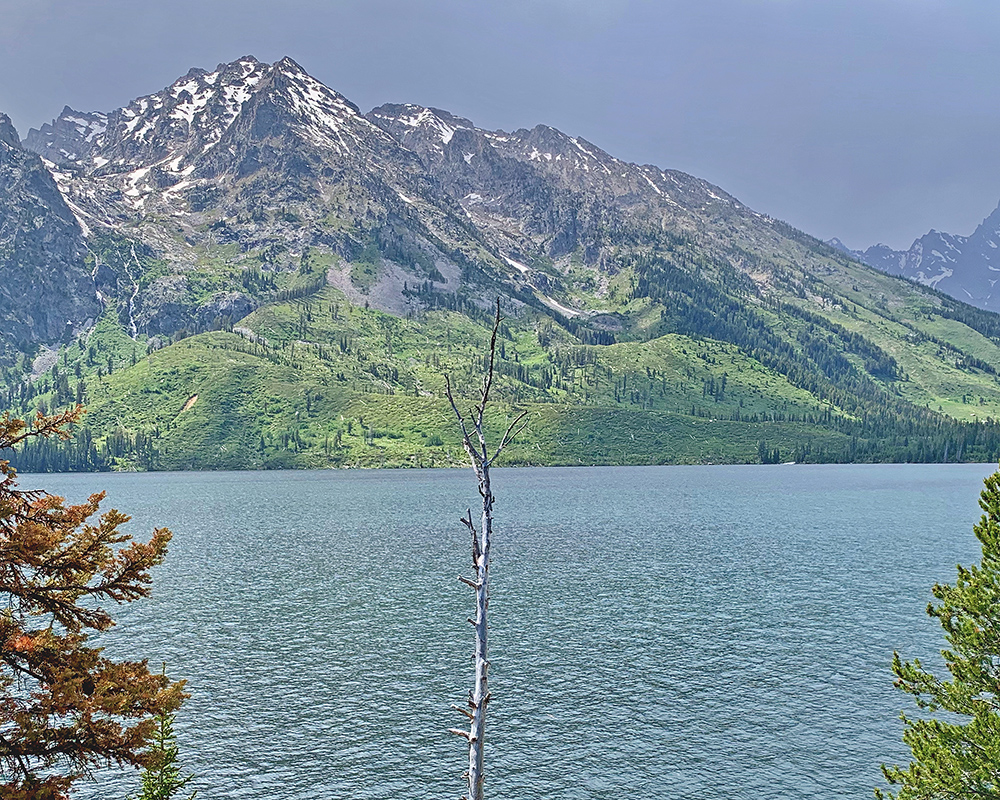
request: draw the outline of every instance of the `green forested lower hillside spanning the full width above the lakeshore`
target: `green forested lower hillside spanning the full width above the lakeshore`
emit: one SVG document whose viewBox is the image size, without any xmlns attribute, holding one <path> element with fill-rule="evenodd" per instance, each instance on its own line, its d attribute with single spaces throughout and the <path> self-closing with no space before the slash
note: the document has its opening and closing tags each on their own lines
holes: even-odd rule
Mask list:
<svg viewBox="0 0 1000 800">
<path fill-rule="evenodd" d="M 529 409 L 531 420 L 508 463 L 996 457 L 1000 386 L 987 359 L 998 348 L 974 328 L 929 310 L 912 322 L 873 314 L 845 306 L 845 297 L 831 298 L 825 314 L 794 300 L 755 306 L 708 280 L 664 277 L 660 264 L 640 268 L 673 294 L 654 299 L 657 290 L 636 281 L 620 313 L 639 324 L 607 332 L 609 343 L 583 344 L 566 320 L 530 307 L 505 320 L 496 424 L 515 408 Z M 905 296 L 910 287 L 886 288 Z M 950 328 L 951 341 L 922 332 Z M 233 330 L 164 347 L 133 342 L 111 308 L 23 397 L 10 393 L 10 405 L 24 411 L 77 400 L 90 409 L 77 442 L 28 451 L 20 463 L 463 463 L 443 376 L 471 396 L 487 333 L 482 309 L 396 317 L 325 285 L 266 305 Z M 954 416 L 939 411 L 945 405 Z"/>
</svg>

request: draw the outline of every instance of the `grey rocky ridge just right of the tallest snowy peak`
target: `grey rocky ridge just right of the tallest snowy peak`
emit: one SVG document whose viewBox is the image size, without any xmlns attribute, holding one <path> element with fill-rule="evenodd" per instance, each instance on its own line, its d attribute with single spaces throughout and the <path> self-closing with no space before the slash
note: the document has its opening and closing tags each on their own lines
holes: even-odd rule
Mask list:
<svg viewBox="0 0 1000 800">
<path fill-rule="evenodd" d="M 597 264 L 612 231 L 696 230 L 712 205 L 744 210 L 705 181 L 626 163 L 545 125 L 486 131 L 413 105 L 384 105 L 368 118 L 420 156 L 494 246 L 529 261 L 580 252 Z"/>
</svg>

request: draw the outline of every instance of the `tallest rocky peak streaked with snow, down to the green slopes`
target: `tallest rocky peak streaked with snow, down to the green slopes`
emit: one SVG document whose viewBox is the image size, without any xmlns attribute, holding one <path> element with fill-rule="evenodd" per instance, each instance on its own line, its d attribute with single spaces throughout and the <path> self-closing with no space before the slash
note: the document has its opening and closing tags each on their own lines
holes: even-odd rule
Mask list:
<svg viewBox="0 0 1000 800">
<path fill-rule="evenodd" d="M 205 269 L 206 251 L 220 245 L 235 246 L 231 260 L 243 266 L 255 258 L 268 269 L 296 269 L 311 246 L 349 262 L 373 230 L 406 219 L 408 246 L 431 253 L 428 274 L 448 283 L 460 271 L 435 267 L 439 248 L 427 236 L 457 248 L 449 231 L 461 231 L 461 210 L 441 202 L 412 152 L 289 58 L 193 69 L 106 114 L 64 109 L 30 131 L 25 147 L 45 159 L 92 240 L 96 273 L 107 278 L 99 288 L 129 295 L 127 324 L 136 331 L 170 334 L 254 307 L 239 285 L 207 298 L 194 286 L 190 273 Z M 129 244 L 120 256 L 115 245 L 102 255 L 100 242 L 124 227 L 147 249 L 133 256 Z M 166 274 L 140 279 L 151 260 L 165 262 Z M 335 277 L 351 289 L 344 273 Z M 395 289 L 405 281 L 385 293 L 397 311 L 406 302 Z"/>
</svg>

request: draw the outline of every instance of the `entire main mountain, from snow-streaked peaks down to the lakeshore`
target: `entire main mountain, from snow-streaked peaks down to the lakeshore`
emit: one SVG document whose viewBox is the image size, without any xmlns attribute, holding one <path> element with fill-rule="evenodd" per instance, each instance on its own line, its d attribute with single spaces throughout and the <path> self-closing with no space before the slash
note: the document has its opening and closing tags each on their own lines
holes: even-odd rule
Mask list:
<svg viewBox="0 0 1000 800">
<path fill-rule="evenodd" d="M 27 468 L 460 463 L 444 375 L 472 395 L 497 298 L 511 463 L 1000 452 L 1000 317 L 699 178 L 362 113 L 290 58 L 23 141 L 0 116 L 0 270 L 8 407 L 90 409 Z"/>
</svg>

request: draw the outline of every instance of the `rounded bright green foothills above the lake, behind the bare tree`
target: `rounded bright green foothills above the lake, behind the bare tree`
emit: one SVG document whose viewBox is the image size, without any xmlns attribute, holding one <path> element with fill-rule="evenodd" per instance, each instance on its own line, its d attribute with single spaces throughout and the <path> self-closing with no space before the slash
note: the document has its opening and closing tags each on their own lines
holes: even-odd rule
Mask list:
<svg viewBox="0 0 1000 800">
<path fill-rule="evenodd" d="M 201 334 L 91 380 L 88 424 L 155 431 L 160 468 L 462 461 L 443 375 L 468 394 L 469 365 L 486 343 L 482 326 L 453 312 L 397 319 L 351 307 L 332 288 L 258 311 L 242 326 L 268 344 Z M 502 371 L 522 366 L 537 382 L 548 367 L 556 376 L 545 389 L 501 376 L 498 411 L 509 412 L 515 397 L 531 410 L 512 463 L 755 461 L 761 440 L 790 452 L 810 426 L 730 416 L 820 411 L 808 393 L 730 345 L 669 335 L 645 345 L 567 346 L 595 361 L 558 370 L 531 326 L 509 333 Z M 725 393 L 706 395 L 705 383 L 721 387 L 723 376 Z M 707 416 L 692 417 L 692 406 Z M 814 434 L 831 446 L 842 438 Z"/>
</svg>

